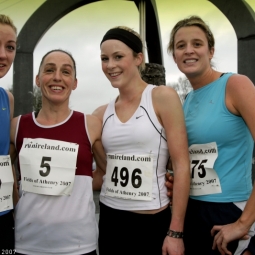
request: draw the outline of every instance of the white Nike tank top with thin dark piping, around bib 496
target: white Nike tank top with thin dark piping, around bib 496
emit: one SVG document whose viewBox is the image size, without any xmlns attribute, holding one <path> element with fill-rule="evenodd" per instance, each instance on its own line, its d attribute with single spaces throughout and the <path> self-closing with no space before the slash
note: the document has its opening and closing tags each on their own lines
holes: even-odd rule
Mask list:
<svg viewBox="0 0 255 255">
<path fill-rule="evenodd" d="M 106 177 L 104 176 L 100 201 L 109 207 L 127 211 L 153 210 L 169 203 L 165 187 L 165 173 L 169 152 L 165 130 L 159 123 L 152 104 L 152 90 L 154 87 L 156 86 L 148 85 L 145 88 L 139 107 L 127 122 L 122 123 L 116 115 L 116 100 L 109 103 L 104 113 L 102 143 L 106 153 L 111 155 L 129 155 L 130 157 L 150 155 L 153 159 L 151 176 L 152 199 L 144 201 L 108 196 L 109 189 L 107 189 Z M 122 164 L 125 164 L 125 162 Z M 112 177 L 114 177 L 114 180 L 118 180 L 118 185 L 119 181 L 122 181 L 122 183 L 127 181 L 126 173 L 122 175 L 122 180 L 119 172 L 118 176 L 112 175 Z M 128 181 L 130 181 L 130 178 L 131 174 L 129 174 Z"/>
</svg>

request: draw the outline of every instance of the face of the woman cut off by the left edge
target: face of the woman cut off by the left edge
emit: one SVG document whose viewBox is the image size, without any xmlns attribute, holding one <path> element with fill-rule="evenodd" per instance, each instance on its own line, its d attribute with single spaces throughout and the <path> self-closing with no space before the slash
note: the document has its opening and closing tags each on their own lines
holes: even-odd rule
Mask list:
<svg viewBox="0 0 255 255">
<path fill-rule="evenodd" d="M 0 78 L 9 71 L 16 54 L 16 33 L 9 25 L 0 24 Z"/>
</svg>

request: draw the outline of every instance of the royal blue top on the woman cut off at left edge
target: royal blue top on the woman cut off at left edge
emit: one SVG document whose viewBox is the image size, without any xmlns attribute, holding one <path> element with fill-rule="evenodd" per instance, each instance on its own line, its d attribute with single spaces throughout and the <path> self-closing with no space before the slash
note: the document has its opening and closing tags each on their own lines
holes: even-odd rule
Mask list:
<svg viewBox="0 0 255 255">
<path fill-rule="evenodd" d="M 8 155 L 10 147 L 10 103 L 7 92 L 0 87 L 0 155 Z M 0 212 L 0 216 L 8 213 Z"/>
</svg>

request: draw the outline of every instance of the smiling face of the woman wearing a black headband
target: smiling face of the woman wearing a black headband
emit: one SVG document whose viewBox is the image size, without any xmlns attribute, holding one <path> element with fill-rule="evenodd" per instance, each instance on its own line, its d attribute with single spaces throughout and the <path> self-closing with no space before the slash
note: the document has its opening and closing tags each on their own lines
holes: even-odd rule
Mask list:
<svg viewBox="0 0 255 255">
<path fill-rule="evenodd" d="M 126 86 L 140 77 L 138 66 L 143 55 L 133 51 L 119 40 L 106 40 L 101 45 L 102 70 L 115 88 Z"/>
</svg>

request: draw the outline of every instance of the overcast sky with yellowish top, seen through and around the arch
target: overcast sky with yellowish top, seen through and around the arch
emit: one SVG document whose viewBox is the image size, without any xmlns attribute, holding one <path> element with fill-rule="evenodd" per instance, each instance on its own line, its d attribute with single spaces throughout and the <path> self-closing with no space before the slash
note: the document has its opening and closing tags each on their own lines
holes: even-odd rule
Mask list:
<svg viewBox="0 0 255 255">
<path fill-rule="evenodd" d="M 9 15 L 18 32 L 44 0 L 0 0 L 0 13 Z M 255 0 L 246 0 L 255 10 Z M 222 72 L 237 72 L 237 40 L 227 18 L 208 0 L 156 0 L 166 83 L 182 76 L 167 44 L 172 27 L 182 18 L 199 15 L 210 26 L 216 40 L 214 64 Z M 43 36 L 34 51 L 34 75 L 42 56 L 61 48 L 72 53 L 77 65 L 78 87 L 72 93 L 70 107 L 84 113 L 114 99 L 118 91 L 101 70 L 100 41 L 105 32 L 117 25 L 126 25 L 139 32 L 139 13 L 133 1 L 105 0 L 87 4 L 67 14 Z M 29 38 L 28 38 L 29 40 Z M 12 85 L 12 69 L 1 79 L 4 88 Z"/>
</svg>

